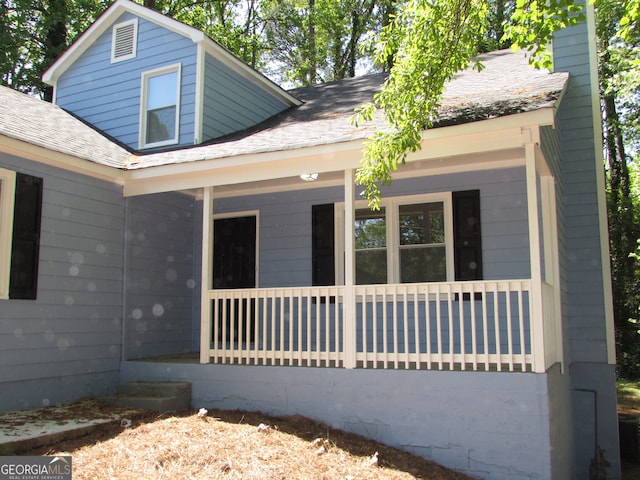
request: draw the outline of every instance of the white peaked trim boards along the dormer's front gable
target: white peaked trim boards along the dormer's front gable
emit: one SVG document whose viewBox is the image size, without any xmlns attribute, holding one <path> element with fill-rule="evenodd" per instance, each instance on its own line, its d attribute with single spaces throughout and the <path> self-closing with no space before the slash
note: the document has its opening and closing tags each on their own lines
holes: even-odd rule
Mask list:
<svg viewBox="0 0 640 480">
<path fill-rule="evenodd" d="M 43 74 L 42 81 L 55 86 L 57 79 L 87 50 L 113 23 L 123 14 L 132 13 L 150 22 L 190 38 L 194 43 L 203 41 L 206 35 L 200 30 L 162 15 L 155 10 L 132 2 L 131 0 L 116 0 L 100 15 L 93 24 L 73 42 L 61 56 Z"/>
</svg>

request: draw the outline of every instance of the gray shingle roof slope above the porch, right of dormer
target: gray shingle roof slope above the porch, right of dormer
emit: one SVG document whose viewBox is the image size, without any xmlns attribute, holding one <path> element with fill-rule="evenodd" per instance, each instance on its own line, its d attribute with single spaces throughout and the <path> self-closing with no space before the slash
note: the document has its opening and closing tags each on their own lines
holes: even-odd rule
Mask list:
<svg viewBox="0 0 640 480">
<path fill-rule="evenodd" d="M 483 55 L 484 70 L 460 72 L 447 84 L 434 127 L 469 123 L 553 107 L 565 88 L 567 73 L 529 66 L 524 53 L 501 50 Z M 360 140 L 387 128 L 382 115 L 358 128 L 349 123 L 354 108 L 372 99 L 382 74 L 292 90 L 304 103 L 258 129 L 210 145 L 135 157 L 129 169 L 258 154 Z"/>
</svg>

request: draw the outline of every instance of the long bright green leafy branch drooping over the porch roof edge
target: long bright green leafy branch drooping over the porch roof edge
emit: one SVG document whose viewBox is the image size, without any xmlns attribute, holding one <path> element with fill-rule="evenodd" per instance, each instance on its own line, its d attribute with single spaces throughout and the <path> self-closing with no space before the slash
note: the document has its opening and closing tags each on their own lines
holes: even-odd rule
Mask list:
<svg viewBox="0 0 640 480">
<path fill-rule="evenodd" d="M 393 67 L 382 91 L 353 117 L 358 124 L 383 109 L 391 127 L 365 145 L 356 176 L 372 208 L 379 208 L 379 184 L 389 184 L 408 152 L 420 148 L 446 82 L 476 53 L 486 7 L 479 0 L 408 1 L 383 29 L 375 61 L 384 65 L 391 58 Z"/>
</svg>

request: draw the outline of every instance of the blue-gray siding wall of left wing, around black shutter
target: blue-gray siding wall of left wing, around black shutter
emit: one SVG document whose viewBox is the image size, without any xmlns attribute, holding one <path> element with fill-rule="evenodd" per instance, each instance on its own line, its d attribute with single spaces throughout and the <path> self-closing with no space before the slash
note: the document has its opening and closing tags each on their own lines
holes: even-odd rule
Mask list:
<svg viewBox="0 0 640 480">
<path fill-rule="evenodd" d="M 121 359 L 122 188 L 0 154 L 43 178 L 36 300 L 0 300 L 0 410 L 111 391 Z"/>
</svg>

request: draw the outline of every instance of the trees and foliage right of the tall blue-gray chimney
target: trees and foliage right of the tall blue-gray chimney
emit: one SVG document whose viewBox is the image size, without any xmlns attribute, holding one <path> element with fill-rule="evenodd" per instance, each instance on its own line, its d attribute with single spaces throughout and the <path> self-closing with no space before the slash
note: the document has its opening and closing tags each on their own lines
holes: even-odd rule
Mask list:
<svg viewBox="0 0 640 480">
<path fill-rule="evenodd" d="M 626 5 L 598 0 L 596 8 L 618 373 L 640 378 L 640 34 L 625 31 Z"/>
</svg>

